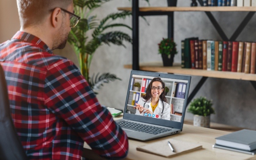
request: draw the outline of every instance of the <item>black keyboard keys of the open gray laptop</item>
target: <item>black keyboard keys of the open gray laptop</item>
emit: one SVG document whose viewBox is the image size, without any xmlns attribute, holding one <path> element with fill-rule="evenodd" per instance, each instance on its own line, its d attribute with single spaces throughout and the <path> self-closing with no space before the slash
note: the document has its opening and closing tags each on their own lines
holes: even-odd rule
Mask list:
<svg viewBox="0 0 256 160">
<path fill-rule="evenodd" d="M 140 132 L 145 132 L 145 133 L 150 133 L 150 134 L 159 134 L 159 133 L 171 131 L 171 129 L 167 129 L 167 128 L 155 127 L 155 126 L 151 126 L 151 125 L 134 123 L 134 122 L 129 122 L 129 121 L 117 121 L 117 123 L 122 128 L 127 128 L 130 130 L 140 131 Z"/>
</svg>

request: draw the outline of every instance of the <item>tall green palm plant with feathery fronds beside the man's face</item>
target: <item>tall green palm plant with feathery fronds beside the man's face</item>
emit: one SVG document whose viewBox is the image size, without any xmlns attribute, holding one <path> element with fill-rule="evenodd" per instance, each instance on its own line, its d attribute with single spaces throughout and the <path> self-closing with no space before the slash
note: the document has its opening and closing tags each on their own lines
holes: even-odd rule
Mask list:
<svg viewBox="0 0 256 160">
<path fill-rule="evenodd" d="M 114 22 L 116 19 L 125 19 L 127 16 L 130 16 L 132 14 L 131 11 L 111 13 L 102 20 L 98 20 L 97 16 L 92 14 L 96 8 L 99 8 L 108 1 L 110 0 L 73 0 L 75 13 L 81 19 L 77 26 L 71 29 L 68 42 L 73 46 L 76 53 L 82 75 L 93 90 L 99 89 L 103 83 L 116 79 L 121 80 L 116 75 L 109 73 L 97 74 L 92 76 L 92 78 L 89 77 L 89 69 L 96 49 L 102 44 L 124 46 L 124 41 L 132 43 L 132 38 L 128 34 L 113 30 L 116 27 L 132 30 L 128 25 Z"/>
</svg>

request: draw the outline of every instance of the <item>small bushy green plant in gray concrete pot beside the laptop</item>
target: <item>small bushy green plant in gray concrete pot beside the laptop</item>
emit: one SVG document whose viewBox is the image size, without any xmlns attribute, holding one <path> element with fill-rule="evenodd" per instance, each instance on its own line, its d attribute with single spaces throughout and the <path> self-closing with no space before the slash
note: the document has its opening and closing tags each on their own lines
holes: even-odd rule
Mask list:
<svg viewBox="0 0 256 160">
<path fill-rule="evenodd" d="M 206 128 L 210 127 L 210 115 L 215 114 L 212 101 L 205 97 L 194 99 L 189 105 L 188 112 L 194 114 L 193 125 Z"/>
</svg>

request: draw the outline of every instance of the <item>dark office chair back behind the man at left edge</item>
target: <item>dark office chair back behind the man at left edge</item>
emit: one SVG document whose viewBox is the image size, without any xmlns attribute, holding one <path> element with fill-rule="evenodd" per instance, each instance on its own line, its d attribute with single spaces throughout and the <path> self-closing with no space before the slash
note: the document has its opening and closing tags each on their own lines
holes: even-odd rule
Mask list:
<svg viewBox="0 0 256 160">
<path fill-rule="evenodd" d="M 0 92 L 0 159 L 28 159 L 12 121 L 7 85 L 1 65 Z"/>
</svg>

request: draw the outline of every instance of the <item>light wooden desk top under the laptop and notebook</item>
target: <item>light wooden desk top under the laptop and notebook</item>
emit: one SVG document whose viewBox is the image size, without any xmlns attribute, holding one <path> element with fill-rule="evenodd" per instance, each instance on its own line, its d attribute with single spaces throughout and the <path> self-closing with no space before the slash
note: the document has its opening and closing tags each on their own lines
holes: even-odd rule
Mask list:
<svg viewBox="0 0 256 160">
<path fill-rule="evenodd" d="M 114 120 L 120 119 L 122 116 L 115 117 Z M 182 140 L 191 143 L 201 144 L 203 149 L 196 150 L 187 154 L 183 154 L 180 156 L 172 157 L 172 159 L 256 159 L 256 156 L 238 153 L 233 151 L 228 151 L 224 149 L 212 148 L 212 145 L 215 143 L 215 137 L 219 137 L 224 134 L 228 134 L 230 132 L 214 130 L 210 128 L 196 127 L 193 125 L 184 124 L 183 130 L 180 133 L 166 136 L 163 138 L 158 138 L 155 140 L 149 141 L 138 141 L 129 139 L 129 152 L 126 159 L 150 159 L 150 160 L 162 160 L 162 159 L 170 159 L 162 156 L 156 156 L 153 154 L 137 151 L 137 146 L 142 146 L 148 143 L 156 142 L 159 140 L 165 139 L 175 139 Z M 85 148 L 88 148 L 85 145 Z M 91 156 L 91 155 L 90 155 Z"/>
</svg>

